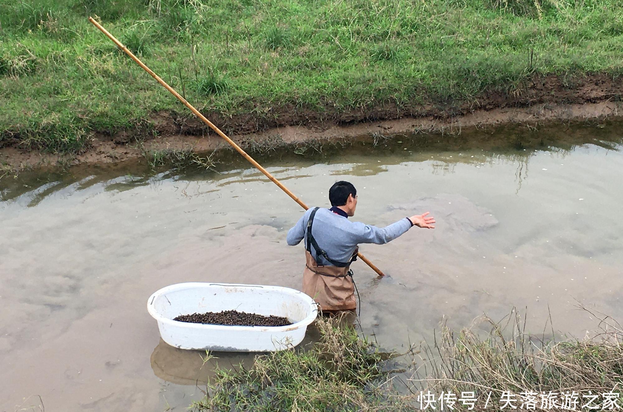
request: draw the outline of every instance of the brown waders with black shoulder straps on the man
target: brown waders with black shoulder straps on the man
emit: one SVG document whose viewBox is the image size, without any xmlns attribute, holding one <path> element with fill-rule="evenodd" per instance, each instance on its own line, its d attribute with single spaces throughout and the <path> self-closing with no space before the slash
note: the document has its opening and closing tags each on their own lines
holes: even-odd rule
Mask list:
<svg viewBox="0 0 623 412">
<path fill-rule="evenodd" d="M 305 251 L 305 271 L 303 271 L 303 292 L 311 296 L 323 311 L 353 311 L 357 307 L 354 298 L 353 272 L 350 264 L 356 259 L 355 249 L 348 263 L 331 260 L 318 246 L 312 235 L 313 218 L 316 207 L 307 222 L 307 245 Z M 319 266 L 312 256 L 312 247 L 333 266 Z M 317 256 L 317 255 L 316 255 Z"/>
</svg>

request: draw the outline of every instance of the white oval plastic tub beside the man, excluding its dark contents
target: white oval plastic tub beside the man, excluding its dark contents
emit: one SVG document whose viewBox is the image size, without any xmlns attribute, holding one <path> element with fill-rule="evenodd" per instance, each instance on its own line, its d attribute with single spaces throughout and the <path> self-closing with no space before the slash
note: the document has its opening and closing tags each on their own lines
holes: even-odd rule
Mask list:
<svg viewBox="0 0 623 412">
<path fill-rule="evenodd" d="M 271 352 L 294 347 L 316 319 L 313 299 L 295 289 L 231 283 L 178 283 L 150 296 L 147 310 L 158 321 L 160 336 L 179 349 L 224 352 Z M 285 316 L 287 326 L 207 325 L 173 321 L 183 314 L 236 310 Z"/>
</svg>

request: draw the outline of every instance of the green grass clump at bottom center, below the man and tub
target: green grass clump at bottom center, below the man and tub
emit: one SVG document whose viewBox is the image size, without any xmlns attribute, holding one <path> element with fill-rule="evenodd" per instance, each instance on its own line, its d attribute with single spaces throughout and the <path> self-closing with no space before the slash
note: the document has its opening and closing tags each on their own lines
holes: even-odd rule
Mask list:
<svg viewBox="0 0 623 412">
<path fill-rule="evenodd" d="M 352 327 L 319 319 L 321 341 L 308 351 L 255 358 L 252 368 L 223 368 L 195 411 L 361 411 L 381 405 L 374 388 L 387 375 L 381 353 Z M 375 410 L 378 410 L 375 408 Z"/>
</svg>

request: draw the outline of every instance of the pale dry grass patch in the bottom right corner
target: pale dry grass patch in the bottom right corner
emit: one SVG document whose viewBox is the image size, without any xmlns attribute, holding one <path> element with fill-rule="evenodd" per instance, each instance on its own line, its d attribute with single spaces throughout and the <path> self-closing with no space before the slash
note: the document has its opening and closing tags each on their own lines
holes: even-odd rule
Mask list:
<svg viewBox="0 0 623 412">
<path fill-rule="evenodd" d="M 616 322 L 602 316 L 597 334 L 563 342 L 553 339 L 553 330 L 549 339 L 545 330 L 540 337 L 527 334 L 525 322 L 516 311 L 504 325 L 485 316 L 478 320 L 481 326 L 490 326 L 485 337 L 474 328 L 455 333 L 442 326 L 439 340 L 422 347 L 417 355 L 418 366 L 410 380 L 412 390 L 458 395 L 475 391 L 482 402 L 478 404 L 480 410 L 500 410 L 503 396 L 514 398 L 517 408 L 537 399 L 536 410 L 551 410 L 541 393 L 553 393 L 563 405 L 564 394 L 575 392 L 586 403 L 583 395 L 589 391 L 619 392 L 623 382 L 623 330 Z M 489 393 L 492 401 L 484 407 Z M 620 400 L 619 405 L 623 405 Z"/>
</svg>

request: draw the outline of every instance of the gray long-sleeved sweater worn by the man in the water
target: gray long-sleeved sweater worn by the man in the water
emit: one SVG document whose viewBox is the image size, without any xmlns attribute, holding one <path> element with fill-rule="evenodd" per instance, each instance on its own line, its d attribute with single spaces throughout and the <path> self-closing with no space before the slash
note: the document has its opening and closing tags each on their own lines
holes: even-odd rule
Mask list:
<svg viewBox="0 0 623 412">
<path fill-rule="evenodd" d="M 307 210 L 297 224 L 288 231 L 288 245 L 298 245 L 301 240 L 305 240 L 303 245 L 307 245 L 307 221 L 312 210 L 313 208 Z M 348 262 L 359 243 L 383 245 L 396 239 L 402 233 L 406 233 L 410 228 L 411 221 L 407 218 L 384 228 L 378 228 L 361 222 L 351 222 L 348 218 L 333 213 L 329 209 L 319 208 L 313 220 L 312 234 L 318 246 L 325 250 L 332 260 Z M 319 260 L 318 265 L 331 266 L 325 258 L 317 255 L 312 246 L 312 256 Z"/>
</svg>

